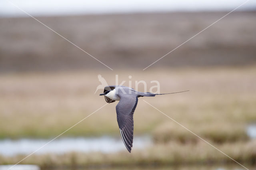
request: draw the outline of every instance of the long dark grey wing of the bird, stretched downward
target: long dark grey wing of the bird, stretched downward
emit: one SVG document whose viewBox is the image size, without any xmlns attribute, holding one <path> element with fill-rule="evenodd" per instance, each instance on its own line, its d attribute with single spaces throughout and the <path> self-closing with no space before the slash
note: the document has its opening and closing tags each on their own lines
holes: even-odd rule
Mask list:
<svg viewBox="0 0 256 170">
<path fill-rule="evenodd" d="M 118 94 L 119 103 L 116 105 L 117 122 L 127 150 L 131 152 L 133 142 L 133 114 L 138 103 L 136 95 Z"/>
</svg>

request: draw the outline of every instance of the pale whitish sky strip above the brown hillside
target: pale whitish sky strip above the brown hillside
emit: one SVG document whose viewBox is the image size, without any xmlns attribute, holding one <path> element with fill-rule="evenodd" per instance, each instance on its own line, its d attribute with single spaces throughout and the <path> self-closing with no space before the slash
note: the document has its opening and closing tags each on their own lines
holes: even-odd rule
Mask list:
<svg viewBox="0 0 256 170">
<path fill-rule="evenodd" d="M 32 16 L 173 11 L 231 11 L 246 0 L 10 0 Z M 238 10 L 256 10 L 249 0 Z M 26 16 L 9 0 L 0 0 L 0 16 Z"/>
</svg>

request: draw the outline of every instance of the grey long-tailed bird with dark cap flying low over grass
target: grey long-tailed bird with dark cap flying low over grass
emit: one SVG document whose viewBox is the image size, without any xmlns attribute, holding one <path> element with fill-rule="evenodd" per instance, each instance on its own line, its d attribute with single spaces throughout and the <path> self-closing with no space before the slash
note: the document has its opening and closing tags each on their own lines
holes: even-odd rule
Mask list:
<svg viewBox="0 0 256 170">
<path fill-rule="evenodd" d="M 175 92 L 181 93 L 185 91 Z M 138 97 L 154 97 L 155 95 L 166 95 L 173 93 L 155 94 L 149 92 L 136 91 L 130 87 L 122 85 L 112 85 L 104 87 L 104 95 L 107 103 L 119 101 L 116 105 L 117 122 L 122 140 L 129 152 L 132 150 L 133 143 L 133 114 L 138 103 Z"/>
</svg>

